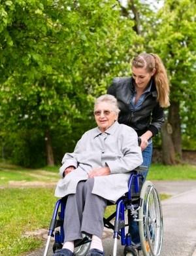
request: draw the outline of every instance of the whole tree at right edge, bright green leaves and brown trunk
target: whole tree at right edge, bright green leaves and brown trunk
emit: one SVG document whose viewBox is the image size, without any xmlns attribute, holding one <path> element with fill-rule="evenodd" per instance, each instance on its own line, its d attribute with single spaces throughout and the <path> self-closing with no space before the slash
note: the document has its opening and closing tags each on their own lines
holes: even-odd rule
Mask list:
<svg viewBox="0 0 196 256">
<path fill-rule="evenodd" d="M 163 132 L 163 140 L 168 142 L 165 149 L 163 148 L 163 152 L 168 149 L 171 151 L 168 154 L 169 158 L 163 154 L 165 164 L 174 164 L 182 160 L 182 134 L 189 130 L 189 126 L 193 126 L 193 116 L 195 117 L 193 113 L 188 114 L 188 109 L 195 108 L 193 102 L 195 102 L 196 96 L 195 12 L 194 1 L 165 1 L 164 7 L 157 14 L 159 22 L 155 31 L 152 31 L 155 37 L 152 35 L 152 41 L 150 41 L 152 48 L 160 54 L 163 62 L 167 65 L 171 82 L 171 106 L 168 112 L 168 122 L 172 132 L 171 134 L 167 130 Z"/>
</svg>

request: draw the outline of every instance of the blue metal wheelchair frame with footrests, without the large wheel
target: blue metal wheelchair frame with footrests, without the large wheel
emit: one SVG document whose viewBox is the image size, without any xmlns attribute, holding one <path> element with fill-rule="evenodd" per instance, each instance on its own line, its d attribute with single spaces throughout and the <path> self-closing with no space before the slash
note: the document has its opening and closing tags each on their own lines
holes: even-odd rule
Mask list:
<svg viewBox="0 0 196 256">
<path fill-rule="evenodd" d="M 142 183 L 144 183 L 145 174 L 146 174 L 146 166 L 139 166 L 135 170 L 131 171 L 129 181 L 128 181 L 128 192 L 125 194 L 125 196 L 122 196 L 118 201 L 116 202 L 116 211 L 112 213 L 107 219 L 105 217 L 103 218 L 104 226 L 108 229 L 114 230 L 114 247 L 113 247 L 113 256 L 116 256 L 117 251 L 117 242 L 118 239 L 121 237 L 121 244 L 122 246 L 125 246 L 125 251 L 131 251 L 134 255 L 134 246 L 131 241 L 131 234 L 127 233 L 125 234 L 125 227 L 129 226 L 129 217 L 130 215 L 133 215 L 135 221 L 137 221 L 138 215 L 137 211 L 140 208 L 141 202 L 140 202 L 140 190 L 142 187 Z M 50 222 L 49 232 L 48 232 L 48 240 L 46 242 L 46 247 L 44 251 L 44 256 L 47 255 L 50 238 L 54 237 L 55 242 L 53 246 L 53 251 L 56 249 L 61 249 L 63 246 L 65 234 L 63 230 L 63 220 L 65 215 L 65 208 L 66 208 L 66 201 L 67 198 L 61 198 L 57 200 L 56 206 L 54 208 L 54 213 L 52 215 L 52 220 Z M 108 205 L 113 205 L 112 203 L 108 202 Z M 59 207 L 61 210 L 59 211 Z M 125 210 L 128 212 L 128 223 L 125 224 Z M 59 219 L 57 219 L 57 216 Z M 114 225 L 110 222 L 112 219 L 115 218 Z M 60 230 L 56 230 L 54 234 L 54 230 L 60 227 Z M 76 246 L 81 246 L 82 244 L 86 244 L 88 242 L 91 242 L 91 240 L 87 237 L 84 237 L 84 239 L 78 244 L 75 244 Z"/>
</svg>

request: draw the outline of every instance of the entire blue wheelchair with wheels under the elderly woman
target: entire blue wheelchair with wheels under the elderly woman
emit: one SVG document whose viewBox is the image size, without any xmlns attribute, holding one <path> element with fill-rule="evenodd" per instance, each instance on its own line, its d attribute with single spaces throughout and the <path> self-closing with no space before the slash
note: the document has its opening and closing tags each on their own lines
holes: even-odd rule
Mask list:
<svg viewBox="0 0 196 256">
<path fill-rule="evenodd" d="M 163 241 L 161 202 L 153 183 L 145 181 L 144 174 L 146 170 L 145 166 L 139 166 L 130 173 L 128 192 L 116 202 L 116 211 L 109 217 L 103 218 L 105 227 L 114 231 L 114 246 L 111 256 L 117 256 L 119 239 L 121 240 L 121 245 L 124 246 L 123 256 L 138 256 L 140 250 L 142 250 L 144 256 L 158 256 L 161 253 Z M 53 252 L 63 246 L 65 205 L 66 197 L 56 202 L 44 256 L 47 256 L 50 240 L 53 236 L 55 238 Z M 108 206 L 110 205 L 112 203 L 108 202 Z M 126 214 L 127 217 L 125 217 Z M 131 241 L 131 234 L 127 232 L 131 218 L 139 225 L 140 244 L 137 245 Z M 90 248 L 90 242 L 91 238 L 84 235 L 83 239 L 78 244 L 75 244 L 74 255 L 85 256 Z"/>
</svg>

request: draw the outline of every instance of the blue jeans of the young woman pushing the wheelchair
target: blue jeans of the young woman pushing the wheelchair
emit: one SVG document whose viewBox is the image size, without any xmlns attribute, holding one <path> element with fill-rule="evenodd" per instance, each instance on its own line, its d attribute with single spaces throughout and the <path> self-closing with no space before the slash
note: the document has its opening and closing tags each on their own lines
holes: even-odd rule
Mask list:
<svg viewBox="0 0 196 256">
<path fill-rule="evenodd" d="M 146 149 L 142 151 L 142 156 L 143 156 L 142 166 L 147 166 L 149 170 L 151 160 L 152 160 L 152 143 L 150 143 L 148 147 L 146 147 Z M 146 174 L 144 174 L 144 180 L 146 179 L 148 170 L 146 171 Z M 140 236 L 139 236 L 138 222 L 134 221 L 132 216 L 130 217 L 130 222 L 129 222 L 129 233 L 131 234 L 132 242 L 135 244 L 139 244 Z"/>
</svg>

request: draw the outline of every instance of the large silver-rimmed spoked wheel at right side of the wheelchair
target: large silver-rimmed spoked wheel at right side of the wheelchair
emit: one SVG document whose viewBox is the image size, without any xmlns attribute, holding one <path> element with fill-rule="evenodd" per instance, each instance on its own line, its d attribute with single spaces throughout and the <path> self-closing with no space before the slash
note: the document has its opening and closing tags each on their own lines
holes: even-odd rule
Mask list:
<svg viewBox="0 0 196 256">
<path fill-rule="evenodd" d="M 151 181 L 145 181 L 140 193 L 140 243 L 144 256 L 158 256 L 163 241 L 163 215 L 159 194 Z"/>
</svg>

